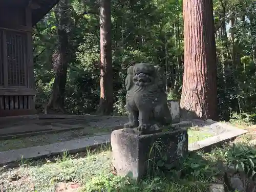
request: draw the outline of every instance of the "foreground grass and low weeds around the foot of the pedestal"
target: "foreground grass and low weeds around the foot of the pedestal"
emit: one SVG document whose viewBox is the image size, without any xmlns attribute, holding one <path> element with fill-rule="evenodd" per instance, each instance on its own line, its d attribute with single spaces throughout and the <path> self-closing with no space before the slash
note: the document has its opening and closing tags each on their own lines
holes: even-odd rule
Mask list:
<svg viewBox="0 0 256 192">
<path fill-rule="evenodd" d="M 75 156 L 64 153 L 46 161 L 25 161 L 18 168 L 0 168 L 0 184 L 6 192 L 206 192 L 209 183 L 221 173 L 219 160 L 235 161 L 233 158 L 240 154 L 239 159 L 244 159 L 246 163 L 246 158 L 242 156 L 255 154 L 250 146 L 237 145 L 236 154 L 233 154 L 233 149 L 233 146 L 225 145 L 211 153 L 191 153 L 181 169 L 165 172 L 164 175 L 158 169 L 158 173 L 148 175 L 137 183 L 131 176 L 114 174 L 110 146 L 103 146 L 97 151 L 88 150 Z M 59 189 L 65 184 L 77 188 Z"/>
</svg>

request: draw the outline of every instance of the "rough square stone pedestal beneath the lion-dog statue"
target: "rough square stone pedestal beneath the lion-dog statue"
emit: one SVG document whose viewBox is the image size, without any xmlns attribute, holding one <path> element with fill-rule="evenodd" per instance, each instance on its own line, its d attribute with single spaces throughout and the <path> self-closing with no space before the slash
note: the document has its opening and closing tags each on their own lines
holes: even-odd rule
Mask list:
<svg viewBox="0 0 256 192">
<path fill-rule="evenodd" d="M 135 180 L 142 179 L 154 166 L 171 168 L 182 163 L 188 152 L 186 129 L 135 135 L 113 131 L 111 134 L 113 165 L 120 176 L 132 172 Z"/>
</svg>

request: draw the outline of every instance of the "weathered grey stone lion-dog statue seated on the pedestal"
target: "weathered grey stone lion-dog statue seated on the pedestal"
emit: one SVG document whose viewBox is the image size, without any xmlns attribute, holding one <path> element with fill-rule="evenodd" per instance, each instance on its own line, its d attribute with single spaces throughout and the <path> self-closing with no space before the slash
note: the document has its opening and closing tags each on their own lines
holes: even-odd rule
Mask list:
<svg viewBox="0 0 256 192">
<path fill-rule="evenodd" d="M 162 67 L 136 63 L 127 69 L 125 88 L 129 122 L 124 124 L 124 131 L 151 134 L 172 122 Z"/>
</svg>

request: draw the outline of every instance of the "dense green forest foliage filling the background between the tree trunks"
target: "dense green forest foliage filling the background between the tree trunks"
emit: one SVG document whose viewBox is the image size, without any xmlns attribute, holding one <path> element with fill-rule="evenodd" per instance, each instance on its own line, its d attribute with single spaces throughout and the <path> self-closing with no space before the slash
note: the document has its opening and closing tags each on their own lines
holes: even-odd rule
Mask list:
<svg viewBox="0 0 256 192">
<path fill-rule="evenodd" d="M 256 111 L 255 2 L 214 1 L 220 118 Z M 73 114 L 93 113 L 99 103 L 100 48 L 98 4 L 70 0 L 68 35 L 70 61 L 65 108 Z M 135 62 L 150 62 L 166 69 L 168 99 L 179 99 L 182 87 L 184 34 L 182 1 L 111 1 L 113 114 L 125 115 L 124 79 Z M 83 15 L 84 11 L 87 14 Z M 246 19 L 245 19 L 246 18 Z M 230 26 L 230 22 L 233 23 Z M 228 24 L 229 23 L 229 24 Z M 221 25 L 222 24 L 222 25 Z M 222 26 L 225 26 L 226 34 Z M 36 101 L 47 102 L 54 82 L 53 54 L 58 47 L 54 10 L 34 28 Z M 231 35 L 233 33 L 233 36 Z"/>
</svg>

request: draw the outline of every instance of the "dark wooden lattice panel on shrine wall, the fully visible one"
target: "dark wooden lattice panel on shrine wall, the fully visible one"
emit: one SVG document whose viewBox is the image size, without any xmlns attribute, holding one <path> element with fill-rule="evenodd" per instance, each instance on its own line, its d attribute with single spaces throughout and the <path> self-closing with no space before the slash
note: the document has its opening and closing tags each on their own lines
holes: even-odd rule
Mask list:
<svg viewBox="0 0 256 192">
<path fill-rule="evenodd" d="M 25 33 L 6 31 L 9 86 L 26 86 L 26 42 Z"/>
</svg>

